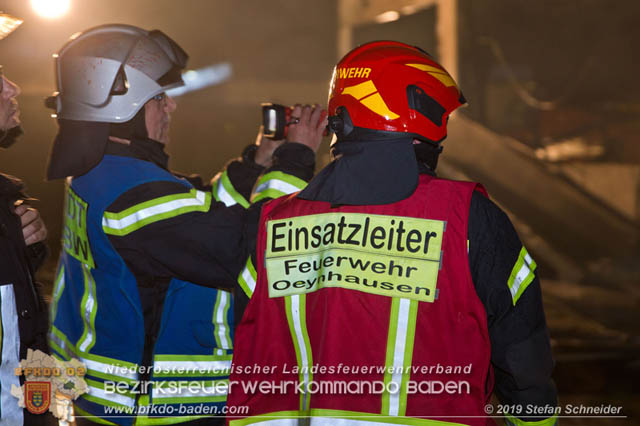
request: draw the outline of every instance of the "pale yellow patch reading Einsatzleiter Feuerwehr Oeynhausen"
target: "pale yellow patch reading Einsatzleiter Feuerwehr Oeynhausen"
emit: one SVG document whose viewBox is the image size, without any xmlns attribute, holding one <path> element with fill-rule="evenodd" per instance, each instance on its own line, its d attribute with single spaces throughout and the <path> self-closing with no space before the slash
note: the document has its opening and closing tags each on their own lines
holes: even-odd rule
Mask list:
<svg viewBox="0 0 640 426">
<path fill-rule="evenodd" d="M 269 297 L 340 287 L 433 302 L 444 222 L 323 213 L 267 222 Z"/>
</svg>

